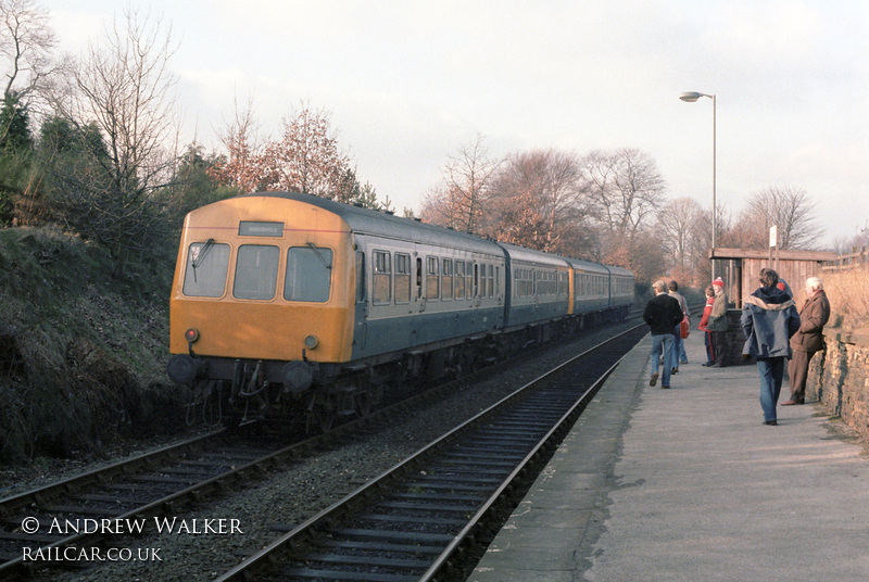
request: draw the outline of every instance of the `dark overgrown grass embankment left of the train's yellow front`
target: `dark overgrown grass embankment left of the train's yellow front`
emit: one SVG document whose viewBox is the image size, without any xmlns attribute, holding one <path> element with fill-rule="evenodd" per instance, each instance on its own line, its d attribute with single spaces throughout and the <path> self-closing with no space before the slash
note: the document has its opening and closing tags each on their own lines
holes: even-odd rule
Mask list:
<svg viewBox="0 0 869 582">
<path fill-rule="evenodd" d="M 173 258 L 118 266 L 55 229 L 0 230 L 0 461 L 99 456 L 184 425 L 164 374 Z"/>
</svg>

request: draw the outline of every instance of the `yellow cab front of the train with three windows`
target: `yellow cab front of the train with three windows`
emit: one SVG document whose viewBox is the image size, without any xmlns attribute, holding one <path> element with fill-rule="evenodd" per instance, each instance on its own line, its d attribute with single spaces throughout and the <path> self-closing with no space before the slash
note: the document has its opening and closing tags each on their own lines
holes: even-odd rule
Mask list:
<svg viewBox="0 0 869 582">
<path fill-rule="evenodd" d="M 299 200 L 248 195 L 191 212 L 172 289 L 172 353 L 215 370 L 235 360 L 348 362 L 352 249 L 344 220 Z"/>
</svg>

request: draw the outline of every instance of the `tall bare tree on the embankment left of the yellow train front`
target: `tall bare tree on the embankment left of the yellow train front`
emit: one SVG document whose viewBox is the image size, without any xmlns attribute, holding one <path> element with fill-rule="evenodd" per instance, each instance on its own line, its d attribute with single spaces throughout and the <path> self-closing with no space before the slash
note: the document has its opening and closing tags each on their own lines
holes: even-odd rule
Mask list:
<svg viewBox="0 0 869 582">
<path fill-rule="evenodd" d="M 171 27 L 131 9 L 104 41 L 88 48 L 72 98 L 55 105 L 79 131 L 95 127 L 104 143 L 91 149 L 89 163 L 54 168 L 53 176 L 63 219 L 123 260 L 152 243 L 161 227 L 153 193 L 169 184 L 177 159 L 168 69 L 175 45 Z"/>
</svg>

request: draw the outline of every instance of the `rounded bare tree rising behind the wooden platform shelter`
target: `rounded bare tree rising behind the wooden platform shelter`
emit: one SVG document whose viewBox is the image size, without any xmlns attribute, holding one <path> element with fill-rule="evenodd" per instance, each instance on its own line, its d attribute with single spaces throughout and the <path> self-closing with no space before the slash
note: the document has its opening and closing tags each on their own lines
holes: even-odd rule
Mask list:
<svg viewBox="0 0 869 582">
<path fill-rule="evenodd" d="M 769 228 L 777 226 L 781 249 L 808 249 L 823 233 L 813 214 L 815 205 L 803 189 L 767 188 L 755 192 L 740 217 L 745 246 L 766 248 Z"/>
</svg>

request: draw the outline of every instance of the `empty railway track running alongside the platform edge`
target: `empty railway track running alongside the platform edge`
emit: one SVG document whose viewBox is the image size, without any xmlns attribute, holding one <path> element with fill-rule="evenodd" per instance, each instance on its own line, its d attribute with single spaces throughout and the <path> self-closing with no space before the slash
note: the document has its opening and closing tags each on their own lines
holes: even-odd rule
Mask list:
<svg viewBox="0 0 869 582">
<path fill-rule="evenodd" d="M 526 384 L 218 580 L 464 580 L 645 333 L 638 326 Z"/>
</svg>

